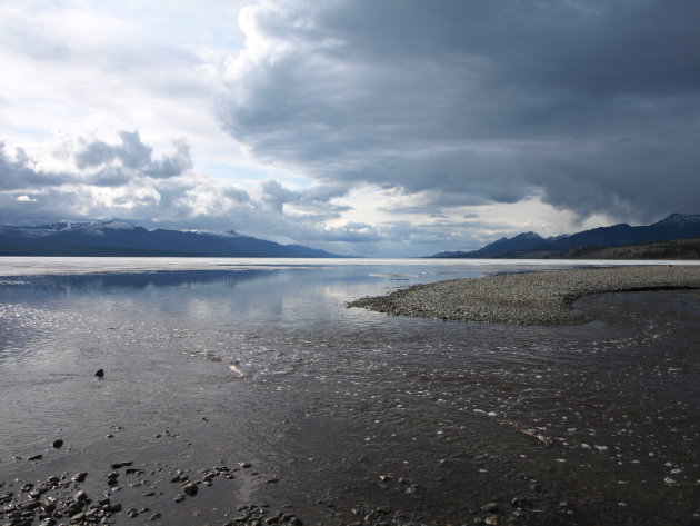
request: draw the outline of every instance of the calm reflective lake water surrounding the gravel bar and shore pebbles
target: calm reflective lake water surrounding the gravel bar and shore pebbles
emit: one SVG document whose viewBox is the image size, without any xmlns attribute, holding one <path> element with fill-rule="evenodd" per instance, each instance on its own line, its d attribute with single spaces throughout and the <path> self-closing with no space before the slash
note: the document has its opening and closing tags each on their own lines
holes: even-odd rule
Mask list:
<svg viewBox="0 0 700 526">
<path fill-rule="evenodd" d="M 572 265 L 604 262 L 0 258 L 0 497 L 87 472 L 112 524 L 700 524 L 698 291 L 584 298 L 596 321 L 563 327 L 344 307 Z M 178 469 L 200 490 L 176 504 Z"/>
</svg>

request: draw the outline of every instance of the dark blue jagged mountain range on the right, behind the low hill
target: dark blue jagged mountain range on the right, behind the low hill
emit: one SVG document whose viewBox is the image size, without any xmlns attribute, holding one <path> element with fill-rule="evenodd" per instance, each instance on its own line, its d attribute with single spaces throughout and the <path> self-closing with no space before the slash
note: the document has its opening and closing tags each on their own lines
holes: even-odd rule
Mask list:
<svg viewBox="0 0 700 526">
<path fill-rule="evenodd" d="M 606 247 L 700 238 L 700 215 L 671 214 L 652 225 L 627 224 L 544 238 L 529 231 L 501 238 L 478 250 L 439 252 L 433 258 L 567 258 Z"/>
</svg>

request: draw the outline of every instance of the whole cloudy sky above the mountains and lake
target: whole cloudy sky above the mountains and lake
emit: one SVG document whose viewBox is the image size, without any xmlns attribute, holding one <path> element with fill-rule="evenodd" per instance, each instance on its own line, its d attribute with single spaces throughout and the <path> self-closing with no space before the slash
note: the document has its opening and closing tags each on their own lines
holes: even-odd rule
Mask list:
<svg viewBox="0 0 700 526">
<path fill-rule="evenodd" d="M 0 224 L 407 257 L 700 214 L 694 0 L 0 0 Z"/>
</svg>

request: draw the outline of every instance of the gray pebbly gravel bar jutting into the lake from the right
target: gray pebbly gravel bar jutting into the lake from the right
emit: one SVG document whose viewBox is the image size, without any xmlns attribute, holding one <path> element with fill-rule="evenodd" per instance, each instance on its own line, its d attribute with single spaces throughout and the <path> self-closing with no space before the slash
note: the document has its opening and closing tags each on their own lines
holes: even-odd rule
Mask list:
<svg viewBox="0 0 700 526">
<path fill-rule="evenodd" d="M 700 288 L 700 266 L 547 270 L 451 279 L 360 298 L 347 306 L 417 318 L 563 325 L 590 321 L 572 307 L 582 296 L 682 288 Z"/>
</svg>

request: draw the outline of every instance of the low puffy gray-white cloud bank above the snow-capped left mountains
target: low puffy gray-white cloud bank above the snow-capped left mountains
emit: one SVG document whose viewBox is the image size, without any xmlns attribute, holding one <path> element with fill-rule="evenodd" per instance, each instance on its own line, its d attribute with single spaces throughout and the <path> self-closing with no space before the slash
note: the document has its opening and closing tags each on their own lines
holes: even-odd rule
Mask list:
<svg viewBox="0 0 700 526">
<path fill-rule="evenodd" d="M 57 219 L 132 220 L 150 228 L 229 230 L 307 242 L 379 239 L 373 227 L 349 224 L 326 229 L 347 209 L 331 205 L 331 187 L 291 190 L 262 182 L 256 196 L 191 170 L 189 148 L 160 158 L 138 132 L 120 131 L 117 142 L 79 140 L 61 151 L 64 170 L 39 168 L 24 150 L 0 142 L 0 224 L 37 225 Z M 286 210 L 296 207 L 294 214 Z"/>
</svg>

